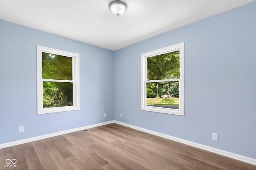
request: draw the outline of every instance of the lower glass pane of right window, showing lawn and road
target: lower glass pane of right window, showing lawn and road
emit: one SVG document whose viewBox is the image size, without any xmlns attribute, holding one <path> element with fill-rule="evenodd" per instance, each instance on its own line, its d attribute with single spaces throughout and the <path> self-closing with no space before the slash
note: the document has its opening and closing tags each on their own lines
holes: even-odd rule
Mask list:
<svg viewBox="0 0 256 170">
<path fill-rule="evenodd" d="M 147 106 L 180 108 L 179 81 L 147 83 Z"/>
</svg>

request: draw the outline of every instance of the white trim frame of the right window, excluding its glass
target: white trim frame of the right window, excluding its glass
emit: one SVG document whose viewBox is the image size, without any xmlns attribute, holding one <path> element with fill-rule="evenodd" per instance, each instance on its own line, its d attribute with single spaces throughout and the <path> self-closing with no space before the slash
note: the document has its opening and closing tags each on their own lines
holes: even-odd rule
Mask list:
<svg viewBox="0 0 256 170">
<path fill-rule="evenodd" d="M 177 50 L 180 50 L 180 78 L 177 79 L 180 83 L 179 109 L 147 106 L 146 83 L 159 82 L 159 80 L 150 80 L 150 81 L 147 80 L 147 77 L 148 77 L 147 58 L 156 56 L 156 55 L 161 55 L 164 53 L 169 53 L 172 51 L 177 51 Z M 163 80 L 163 81 L 175 81 L 175 80 L 176 79 L 169 79 L 169 80 Z M 141 54 L 141 110 L 184 116 L 184 42 Z"/>
</svg>

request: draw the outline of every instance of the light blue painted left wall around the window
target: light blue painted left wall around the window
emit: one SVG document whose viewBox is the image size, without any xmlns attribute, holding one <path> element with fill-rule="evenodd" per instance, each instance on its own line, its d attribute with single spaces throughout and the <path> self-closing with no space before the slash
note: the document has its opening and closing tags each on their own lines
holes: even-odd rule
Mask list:
<svg viewBox="0 0 256 170">
<path fill-rule="evenodd" d="M 36 45 L 80 53 L 80 110 L 37 115 Z M 113 71 L 114 51 L 0 20 L 0 144 L 114 120 Z"/>
</svg>

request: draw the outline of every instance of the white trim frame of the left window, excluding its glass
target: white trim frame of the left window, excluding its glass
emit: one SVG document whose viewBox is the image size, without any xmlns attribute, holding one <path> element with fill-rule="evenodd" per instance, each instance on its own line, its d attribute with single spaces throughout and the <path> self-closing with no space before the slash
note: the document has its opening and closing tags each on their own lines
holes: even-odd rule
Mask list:
<svg viewBox="0 0 256 170">
<path fill-rule="evenodd" d="M 43 79 L 42 79 L 42 52 L 53 53 L 66 57 L 72 57 L 73 79 L 60 82 L 72 82 L 73 84 L 73 106 L 43 108 Z M 37 45 L 37 114 L 55 113 L 63 111 L 74 111 L 80 109 L 80 82 L 79 82 L 79 53 L 53 49 Z M 47 81 L 51 81 L 50 79 Z M 56 81 L 56 80 L 54 80 Z"/>
</svg>

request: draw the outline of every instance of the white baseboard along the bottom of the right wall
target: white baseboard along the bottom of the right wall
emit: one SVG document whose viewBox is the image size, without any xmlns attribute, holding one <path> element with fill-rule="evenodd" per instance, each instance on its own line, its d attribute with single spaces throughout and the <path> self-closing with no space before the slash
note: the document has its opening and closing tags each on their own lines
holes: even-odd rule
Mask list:
<svg viewBox="0 0 256 170">
<path fill-rule="evenodd" d="M 242 156 L 242 155 L 239 155 L 239 154 L 234 154 L 232 152 L 227 152 L 225 150 L 220 150 L 220 149 L 217 149 L 217 148 L 213 148 L 213 147 L 210 147 L 210 146 L 206 146 L 206 145 L 203 145 L 203 144 L 198 144 L 196 142 L 191 142 L 189 140 L 184 140 L 184 139 L 181 139 L 181 138 L 176 138 L 174 136 L 170 136 L 170 135 L 167 135 L 167 134 L 163 134 L 163 133 L 159 133 L 159 132 L 155 132 L 153 130 L 148 130 L 146 128 L 141 128 L 141 127 L 136 127 L 134 125 L 130 125 L 130 124 L 127 124 L 127 123 L 122 123 L 122 122 L 119 122 L 119 121 L 114 121 L 114 123 L 117 123 L 119 125 L 123 125 L 123 126 L 126 126 L 126 127 L 130 127 L 130 128 L 134 128 L 136 130 L 140 130 L 142 132 L 146 132 L 146 133 L 149 133 L 149 134 L 154 134 L 156 136 L 160 136 L 162 138 L 166 138 L 166 139 L 170 139 L 170 140 L 174 140 L 176 142 L 180 142 L 180 143 L 183 143 L 183 144 L 187 144 L 189 146 L 194 146 L 196 148 L 200 148 L 200 149 L 203 149 L 203 150 L 207 150 L 209 152 L 213 152 L 213 153 L 216 153 L 216 154 L 220 154 L 220 155 L 223 155 L 223 156 L 227 156 L 229 158 L 233 158 L 233 159 L 236 159 L 236 160 L 240 160 L 242 162 L 246 162 L 248 164 L 252 164 L 252 165 L 256 165 L 256 159 L 253 159 L 253 158 L 249 158 L 249 157 L 246 157 L 246 156 Z"/>
</svg>

